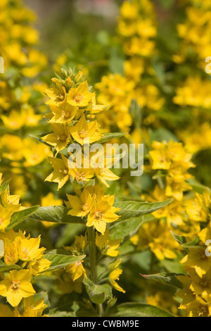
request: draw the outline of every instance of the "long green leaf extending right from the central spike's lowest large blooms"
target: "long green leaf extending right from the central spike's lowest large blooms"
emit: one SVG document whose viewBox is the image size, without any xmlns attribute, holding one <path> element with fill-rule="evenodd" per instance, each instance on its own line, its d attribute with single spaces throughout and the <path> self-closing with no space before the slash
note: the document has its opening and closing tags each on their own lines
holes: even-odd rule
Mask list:
<svg viewBox="0 0 211 331">
<path fill-rule="evenodd" d="M 142 215 L 153 213 L 158 209 L 170 204 L 172 199 L 162 202 L 136 202 L 136 201 L 121 201 L 114 204 L 116 208 L 121 208 L 117 211 L 117 215 L 121 216 L 120 220 L 128 220 Z"/>
</svg>

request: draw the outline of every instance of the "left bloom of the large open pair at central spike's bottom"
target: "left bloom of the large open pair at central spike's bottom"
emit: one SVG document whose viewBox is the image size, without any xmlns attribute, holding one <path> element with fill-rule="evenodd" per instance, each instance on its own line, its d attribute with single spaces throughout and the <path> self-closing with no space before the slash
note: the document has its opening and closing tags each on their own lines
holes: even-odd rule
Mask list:
<svg viewBox="0 0 211 331">
<path fill-rule="evenodd" d="M 91 208 L 94 206 L 95 197 L 92 197 L 87 189 L 83 190 L 79 198 L 70 194 L 67 194 L 67 196 L 69 204 L 72 207 L 72 209 L 68 211 L 68 215 L 84 217 L 91 211 Z"/>
</svg>

